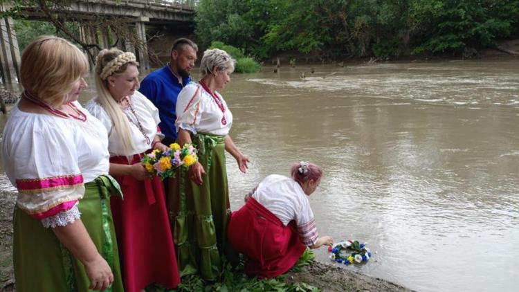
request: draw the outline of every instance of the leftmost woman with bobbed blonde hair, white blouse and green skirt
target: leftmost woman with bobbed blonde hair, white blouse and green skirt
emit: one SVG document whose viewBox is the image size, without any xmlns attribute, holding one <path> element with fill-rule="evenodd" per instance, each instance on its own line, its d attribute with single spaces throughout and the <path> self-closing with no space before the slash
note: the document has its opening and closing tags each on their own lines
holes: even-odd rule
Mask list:
<svg viewBox="0 0 519 292">
<path fill-rule="evenodd" d="M 84 54 L 50 35 L 21 57 L 24 93 L 3 131 L 17 291 L 123 291 L 109 197 L 107 131 L 77 102 Z"/>
</svg>

